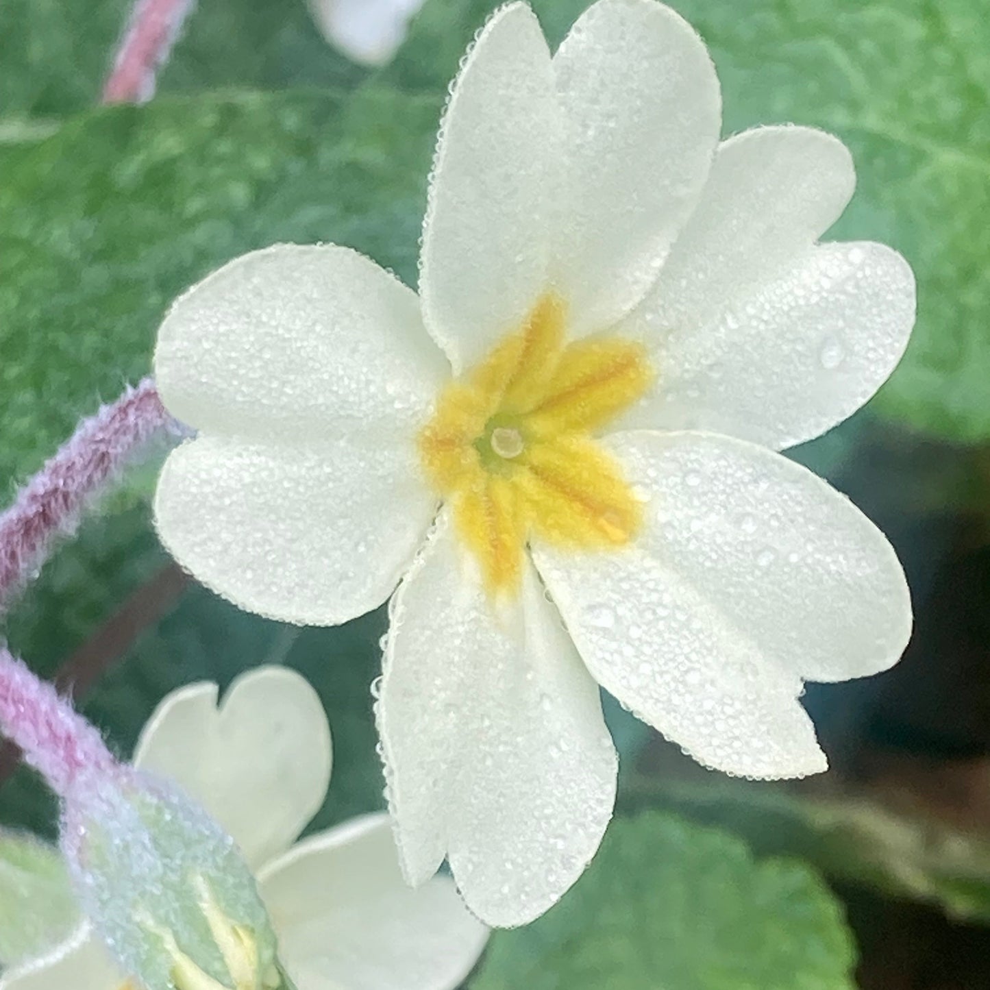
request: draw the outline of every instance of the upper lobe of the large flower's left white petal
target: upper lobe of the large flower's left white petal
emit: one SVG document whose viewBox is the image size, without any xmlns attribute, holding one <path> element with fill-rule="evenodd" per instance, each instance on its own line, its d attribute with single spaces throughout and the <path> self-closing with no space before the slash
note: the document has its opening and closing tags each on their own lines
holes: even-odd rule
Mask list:
<svg viewBox="0 0 990 990">
<path fill-rule="evenodd" d="M 412 438 L 448 374 L 416 294 L 335 245 L 277 245 L 224 265 L 176 300 L 154 353 L 173 416 L 290 443 Z"/>
</svg>

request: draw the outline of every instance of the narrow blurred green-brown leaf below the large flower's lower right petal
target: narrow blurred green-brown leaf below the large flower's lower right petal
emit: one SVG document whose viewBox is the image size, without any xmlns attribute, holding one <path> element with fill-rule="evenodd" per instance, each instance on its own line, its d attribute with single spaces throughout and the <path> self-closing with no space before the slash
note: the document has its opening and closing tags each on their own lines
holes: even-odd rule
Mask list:
<svg viewBox="0 0 990 990">
<path fill-rule="evenodd" d="M 990 840 L 867 797 L 810 798 L 728 777 L 643 780 L 628 795 L 731 829 L 762 854 L 800 856 L 828 876 L 990 924 Z"/>
</svg>

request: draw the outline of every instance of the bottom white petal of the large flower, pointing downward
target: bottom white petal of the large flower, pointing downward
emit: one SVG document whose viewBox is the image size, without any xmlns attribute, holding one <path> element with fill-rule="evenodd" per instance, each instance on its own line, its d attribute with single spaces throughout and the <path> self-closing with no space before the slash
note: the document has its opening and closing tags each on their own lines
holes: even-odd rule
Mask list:
<svg viewBox="0 0 990 990">
<path fill-rule="evenodd" d="M 496 608 L 458 549 L 444 514 L 394 599 L 378 705 L 389 801 L 411 883 L 446 853 L 482 921 L 522 925 L 598 848 L 616 754 L 529 560 Z"/>
</svg>

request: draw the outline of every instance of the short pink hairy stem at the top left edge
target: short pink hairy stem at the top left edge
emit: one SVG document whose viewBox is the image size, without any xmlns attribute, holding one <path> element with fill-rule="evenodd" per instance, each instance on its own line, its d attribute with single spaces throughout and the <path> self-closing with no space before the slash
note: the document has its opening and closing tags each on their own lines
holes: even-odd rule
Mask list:
<svg viewBox="0 0 990 990">
<path fill-rule="evenodd" d="M 168 59 L 193 3 L 137 0 L 103 87 L 104 103 L 145 103 L 154 95 L 158 68 Z"/>
</svg>

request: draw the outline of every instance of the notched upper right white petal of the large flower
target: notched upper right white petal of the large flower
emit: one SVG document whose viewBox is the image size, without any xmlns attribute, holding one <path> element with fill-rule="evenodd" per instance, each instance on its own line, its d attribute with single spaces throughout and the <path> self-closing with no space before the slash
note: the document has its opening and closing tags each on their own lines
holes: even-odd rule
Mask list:
<svg viewBox="0 0 990 990">
<path fill-rule="evenodd" d="M 619 332 L 651 344 L 658 383 L 624 420 L 783 448 L 858 409 L 900 360 L 914 276 L 875 244 L 814 245 L 855 176 L 821 131 L 725 142 L 655 288 Z"/>
</svg>

